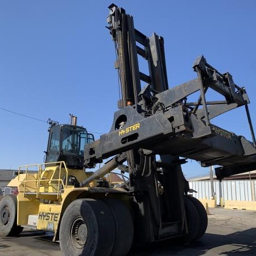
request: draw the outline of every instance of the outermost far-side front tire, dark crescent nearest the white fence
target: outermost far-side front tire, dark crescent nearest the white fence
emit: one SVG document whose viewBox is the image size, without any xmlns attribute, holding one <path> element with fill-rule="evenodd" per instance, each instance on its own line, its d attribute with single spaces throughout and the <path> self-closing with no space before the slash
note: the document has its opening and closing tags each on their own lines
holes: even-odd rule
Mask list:
<svg viewBox="0 0 256 256">
<path fill-rule="evenodd" d="M 204 208 L 204 205 L 201 204 L 201 202 L 198 199 L 192 196 L 187 196 L 187 198 L 193 203 L 193 205 L 195 205 L 197 209 L 197 213 L 199 215 L 199 229 L 194 239 L 194 240 L 197 240 L 200 237 L 202 237 L 205 231 L 207 230 L 207 226 L 208 226 L 207 212 Z"/>
</svg>

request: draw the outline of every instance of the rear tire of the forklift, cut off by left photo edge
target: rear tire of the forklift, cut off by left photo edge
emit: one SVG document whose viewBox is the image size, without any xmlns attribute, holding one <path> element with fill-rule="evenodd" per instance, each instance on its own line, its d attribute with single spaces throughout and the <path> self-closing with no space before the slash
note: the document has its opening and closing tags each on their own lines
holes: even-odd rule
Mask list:
<svg viewBox="0 0 256 256">
<path fill-rule="evenodd" d="M 22 230 L 22 226 L 17 225 L 17 197 L 6 195 L 0 201 L 0 236 L 18 236 Z"/>
</svg>

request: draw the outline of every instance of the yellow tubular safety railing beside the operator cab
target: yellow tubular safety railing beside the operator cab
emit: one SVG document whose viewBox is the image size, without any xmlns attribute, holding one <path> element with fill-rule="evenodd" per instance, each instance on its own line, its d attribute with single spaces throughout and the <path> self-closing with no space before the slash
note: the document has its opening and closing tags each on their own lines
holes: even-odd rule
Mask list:
<svg viewBox="0 0 256 256">
<path fill-rule="evenodd" d="M 58 175 L 58 179 L 52 179 L 53 175 L 56 173 L 53 170 L 47 170 L 47 171 L 52 171 L 51 177 L 49 177 L 49 179 L 45 179 L 43 177 L 44 171 L 46 171 L 46 167 L 47 166 L 57 166 L 57 168 L 55 169 L 55 171 L 57 170 L 57 172 L 59 172 Z M 36 170 L 29 170 L 30 168 L 35 168 Z M 43 164 L 28 164 L 26 166 L 20 166 L 19 170 L 18 170 L 18 181 L 19 182 L 24 182 L 24 195 L 28 194 L 28 193 L 36 193 L 36 198 L 40 198 L 40 195 L 42 194 L 49 194 L 52 192 L 42 192 L 40 191 L 40 188 L 42 187 L 48 187 L 49 184 L 52 184 L 54 182 L 57 183 L 57 189 L 56 189 L 56 193 L 55 195 L 57 196 L 57 200 L 59 199 L 61 192 L 60 192 L 60 186 L 62 185 L 63 189 L 67 188 L 67 182 L 68 179 L 65 179 L 65 184 L 64 181 L 61 177 L 62 172 L 65 172 L 65 177 L 68 177 L 68 169 L 67 166 L 65 164 L 65 162 L 61 161 L 61 162 L 52 162 L 52 163 L 43 163 Z M 38 172 L 38 175 L 34 176 L 35 179 L 27 179 L 28 174 L 30 174 L 31 172 Z M 25 179 L 24 180 L 20 180 L 20 174 L 25 174 Z M 32 183 L 35 182 L 36 183 L 36 192 L 35 191 L 30 191 L 29 189 L 27 189 L 28 187 L 28 183 Z M 43 185 L 44 183 L 44 185 Z"/>
</svg>

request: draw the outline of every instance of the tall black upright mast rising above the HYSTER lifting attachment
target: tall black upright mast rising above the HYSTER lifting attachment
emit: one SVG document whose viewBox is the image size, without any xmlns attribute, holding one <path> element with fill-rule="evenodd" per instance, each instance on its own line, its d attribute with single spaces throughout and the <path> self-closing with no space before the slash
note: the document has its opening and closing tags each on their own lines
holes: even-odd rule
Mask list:
<svg viewBox="0 0 256 256">
<path fill-rule="evenodd" d="M 133 16 L 126 14 L 125 10 L 114 4 L 110 5 L 109 9 L 109 30 L 118 57 L 115 67 L 118 69 L 121 81 L 122 102 L 120 106 L 138 104 L 141 81 L 146 82 L 153 92 L 167 90 L 163 38 L 156 34 L 147 38 L 134 28 Z M 139 71 L 138 55 L 147 61 L 149 75 Z"/>
</svg>

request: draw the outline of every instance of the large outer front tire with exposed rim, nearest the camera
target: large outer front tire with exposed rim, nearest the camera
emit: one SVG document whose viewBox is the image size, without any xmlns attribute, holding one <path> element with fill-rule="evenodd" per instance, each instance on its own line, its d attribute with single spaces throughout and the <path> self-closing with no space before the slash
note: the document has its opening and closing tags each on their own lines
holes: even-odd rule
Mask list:
<svg viewBox="0 0 256 256">
<path fill-rule="evenodd" d="M 114 220 L 105 203 L 77 199 L 60 222 L 60 249 L 64 256 L 109 256 L 114 246 Z"/>
</svg>

